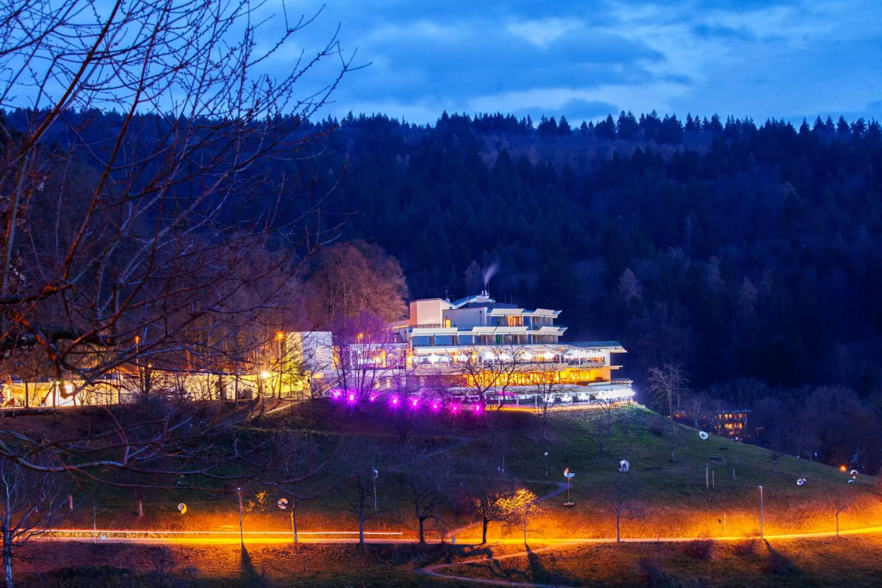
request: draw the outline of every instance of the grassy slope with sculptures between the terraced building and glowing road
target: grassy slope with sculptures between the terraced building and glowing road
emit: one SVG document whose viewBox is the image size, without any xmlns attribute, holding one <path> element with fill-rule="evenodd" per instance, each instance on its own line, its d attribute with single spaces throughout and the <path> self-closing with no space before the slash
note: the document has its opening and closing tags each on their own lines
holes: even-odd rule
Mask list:
<svg viewBox="0 0 882 588">
<path fill-rule="evenodd" d="M 357 518 L 346 510 L 344 495 L 354 467 L 377 467 L 379 511 L 367 522 L 368 530 L 415 531 L 413 504 L 408 501 L 405 480 L 433 467 L 450 470 L 450 500 L 438 511 L 442 524 L 430 528 L 452 532 L 460 541 L 480 537 L 480 529 L 462 529 L 475 521 L 464 497 L 469 484 L 488 470 L 503 467 L 501 475 L 490 472 L 503 484 L 528 488 L 537 495 L 557 490 L 564 482 L 563 470 L 572 479 L 572 508 L 565 508 L 565 493 L 543 502 L 543 512 L 530 522 L 532 540 L 615 536 L 615 509 L 622 502 L 620 527 L 623 537 L 721 537 L 759 533 L 759 485 L 764 488 L 765 532 L 832 531 L 833 502 L 848 504 L 841 511 L 842 529 L 857 528 L 882 520 L 875 480 L 860 476 L 847 484 L 848 473 L 788 456 L 774 465 L 770 451 L 711 436 L 704 441 L 698 431 L 676 425 L 641 406 L 621 406 L 614 413 L 611 434 L 600 450 L 597 419 L 593 410 L 549 413 L 547 440 L 542 440 L 540 417 L 533 413 L 502 411 L 485 416 L 463 415 L 455 423 L 450 416 L 412 415 L 409 421 L 372 407 L 361 414 L 348 413 L 331 403 L 319 404 L 316 413 L 308 406 L 280 410 L 250 423 L 251 434 L 285 428 L 315 440 L 321 462 L 330 461 L 317 475 L 297 487 L 310 495 L 298 510 L 303 530 L 355 530 Z M 673 437 L 673 439 L 672 439 Z M 353 465 L 351 453 L 369 447 L 369 462 Z M 451 448 L 445 451 L 445 448 Z M 671 450 L 676 448 L 676 461 Z M 545 458 L 548 451 L 548 473 Z M 431 457 L 426 458 L 427 454 Z M 618 462 L 630 461 L 628 473 L 618 473 Z M 660 468 L 660 469 L 647 469 Z M 733 473 L 734 472 L 734 473 Z M 712 480 L 706 488 L 706 475 Z M 805 486 L 796 480 L 805 478 Z M 274 506 L 280 495 L 273 488 L 247 485 L 246 505 L 257 502 L 266 490 L 265 508 L 259 505 L 245 515 L 246 530 L 286 530 L 286 513 Z M 277 496 L 278 495 L 278 496 Z M 75 502 L 97 504 L 98 525 L 123 528 L 238 530 L 235 495 L 213 495 L 188 490 L 148 490 L 145 519 L 134 516 L 131 490 L 83 488 Z M 187 515 L 176 505 L 186 502 Z M 71 526 L 91 527 L 92 509 L 74 513 Z M 491 527 L 491 538 L 517 536 L 517 529 Z"/>
</svg>

